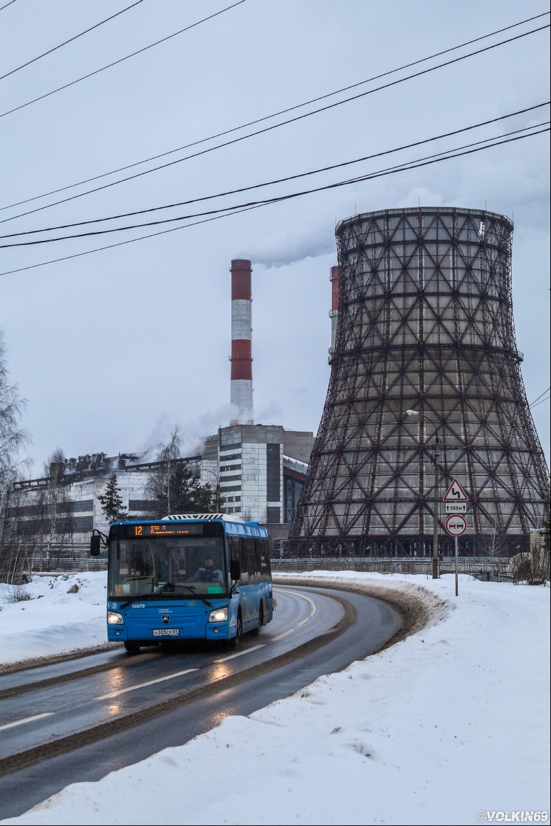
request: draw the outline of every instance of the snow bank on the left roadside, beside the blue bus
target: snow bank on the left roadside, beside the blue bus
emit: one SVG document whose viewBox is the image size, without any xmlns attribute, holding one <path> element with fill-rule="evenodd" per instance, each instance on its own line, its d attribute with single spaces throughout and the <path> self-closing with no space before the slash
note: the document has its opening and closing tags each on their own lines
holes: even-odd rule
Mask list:
<svg viewBox="0 0 551 826">
<path fill-rule="evenodd" d="M 69 588 L 78 585 L 75 594 Z M 55 657 L 107 645 L 107 572 L 34 577 L 25 586 L 31 600 L 9 602 L 0 584 L 0 672 L 40 657 Z"/>
</svg>

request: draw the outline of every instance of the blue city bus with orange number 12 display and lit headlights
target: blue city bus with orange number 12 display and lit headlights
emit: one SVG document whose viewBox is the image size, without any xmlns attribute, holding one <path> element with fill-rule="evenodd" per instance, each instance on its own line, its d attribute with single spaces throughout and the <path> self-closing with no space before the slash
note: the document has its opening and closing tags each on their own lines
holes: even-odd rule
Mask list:
<svg viewBox="0 0 551 826">
<path fill-rule="evenodd" d="M 273 617 L 268 531 L 226 514 L 115 522 L 108 548 L 107 638 L 126 651 L 178 640 L 260 634 Z"/>
</svg>

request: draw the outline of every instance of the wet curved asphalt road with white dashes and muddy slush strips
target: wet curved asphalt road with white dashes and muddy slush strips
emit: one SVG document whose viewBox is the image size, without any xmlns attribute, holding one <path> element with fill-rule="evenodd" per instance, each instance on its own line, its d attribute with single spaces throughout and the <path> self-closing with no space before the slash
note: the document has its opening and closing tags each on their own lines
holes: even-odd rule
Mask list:
<svg viewBox="0 0 551 826">
<path fill-rule="evenodd" d="M 0 819 L 291 695 L 401 625 L 389 605 L 349 591 L 274 596 L 273 621 L 237 650 L 116 649 L 0 676 Z"/>
</svg>

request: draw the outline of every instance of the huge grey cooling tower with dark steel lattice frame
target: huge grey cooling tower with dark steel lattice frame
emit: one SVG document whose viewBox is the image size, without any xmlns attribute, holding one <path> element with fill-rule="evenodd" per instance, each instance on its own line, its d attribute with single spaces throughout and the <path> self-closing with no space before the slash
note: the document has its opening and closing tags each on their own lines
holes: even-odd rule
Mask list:
<svg viewBox="0 0 551 826">
<path fill-rule="evenodd" d="M 452 207 L 337 225 L 335 352 L 287 553 L 432 553 L 435 433 L 439 497 L 454 477 L 471 497 L 462 553 L 514 553 L 549 518 L 515 344 L 512 231 L 505 216 Z M 442 516 L 439 539 L 448 550 Z"/>
</svg>

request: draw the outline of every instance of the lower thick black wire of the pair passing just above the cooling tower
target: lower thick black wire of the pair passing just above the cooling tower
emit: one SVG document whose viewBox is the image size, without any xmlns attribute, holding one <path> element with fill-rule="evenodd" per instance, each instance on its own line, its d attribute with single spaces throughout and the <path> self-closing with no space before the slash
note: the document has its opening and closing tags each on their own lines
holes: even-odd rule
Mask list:
<svg viewBox="0 0 551 826">
<path fill-rule="evenodd" d="M 530 129 L 530 128 L 534 128 L 534 127 L 525 127 L 525 129 L 517 130 L 517 132 L 518 131 L 525 132 L 526 128 Z M 140 229 L 140 228 L 145 227 L 145 226 L 158 226 L 160 224 L 173 223 L 174 221 L 187 221 L 189 218 L 196 218 L 196 217 L 201 217 L 201 216 L 213 216 L 213 215 L 216 216 L 216 215 L 220 214 L 221 212 L 230 214 L 230 212 L 236 211 L 236 210 L 241 211 L 241 210 L 244 210 L 246 208 L 265 207 L 265 206 L 268 206 L 268 204 L 278 203 L 278 202 L 282 202 L 282 201 L 289 201 L 289 200 L 292 200 L 292 199 L 297 198 L 297 197 L 303 197 L 304 195 L 310 195 L 313 192 L 323 192 L 323 191 L 328 190 L 328 189 L 335 189 L 335 188 L 340 188 L 340 187 L 344 187 L 344 186 L 349 186 L 351 183 L 360 183 L 360 182 L 363 182 L 363 181 L 373 180 L 374 178 L 382 178 L 386 175 L 396 174 L 398 172 L 405 172 L 405 171 L 408 171 L 409 169 L 419 169 L 420 167 L 429 166 L 430 164 L 437 164 L 437 163 L 439 163 L 440 161 L 443 161 L 443 160 L 458 158 L 458 157 L 461 157 L 462 155 L 466 155 L 466 154 L 473 154 L 474 152 L 480 152 L 482 150 L 491 149 L 492 146 L 499 146 L 499 145 L 502 145 L 502 144 L 511 143 L 513 141 L 516 141 L 516 140 L 523 140 L 525 138 L 532 137 L 533 135 L 540 135 L 544 132 L 549 132 L 549 126 L 546 127 L 545 129 L 542 129 L 542 130 L 539 130 L 539 131 L 536 131 L 536 132 L 533 131 L 529 135 L 516 135 L 515 137 L 510 137 L 510 138 L 507 138 L 506 140 L 494 140 L 492 138 L 488 138 L 485 141 L 483 141 L 484 143 L 486 143 L 485 146 L 479 146 L 479 145 L 475 145 L 475 144 L 468 144 L 467 146 L 458 147 L 455 150 L 447 150 L 445 153 L 438 153 L 436 155 L 429 155 L 426 158 L 417 159 L 416 161 L 408 161 L 405 164 L 399 164 L 395 167 L 390 167 L 390 168 L 387 168 L 387 169 L 381 169 L 381 170 L 378 170 L 377 172 L 368 173 L 366 175 L 362 175 L 362 176 L 359 176 L 359 177 L 356 177 L 356 178 L 349 178 L 348 180 L 345 180 L 345 181 L 339 181 L 337 183 L 325 184 L 324 186 L 302 190 L 301 192 L 292 192 L 290 194 L 282 195 L 282 196 L 278 196 L 278 197 L 264 198 L 264 200 L 262 200 L 262 201 L 253 201 L 253 202 L 248 202 L 248 203 L 245 203 L 245 204 L 236 204 L 233 207 L 222 207 L 221 209 L 210 210 L 210 211 L 205 211 L 205 212 L 197 212 L 197 213 L 194 213 L 192 215 L 176 216 L 175 218 L 165 218 L 165 219 L 162 219 L 160 221 L 148 221 L 148 222 L 145 222 L 145 223 L 142 223 L 142 224 L 133 224 L 133 225 L 129 225 L 129 226 L 115 227 L 115 228 L 111 228 L 111 229 L 108 229 L 108 230 L 92 230 L 92 231 L 88 231 L 88 232 L 78 233 L 78 234 L 75 234 L 75 235 L 65 235 L 65 236 L 59 237 L 59 238 L 48 238 L 48 239 L 36 240 L 36 241 L 19 241 L 19 242 L 16 242 L 14 244 L 0 244 L 0 249 L 10 249 L 12 247 L 22 247 L 22 246 L 36 246 L 38 244 L 51 244 L 51 243 L 54 243 L 56 241 L 74 240 L 74 239 L 77 239 L 77 238 L 87 238 L 87 237 L 90 237 L 90 236 L 93 236 L 93 235 L 107 235 L 107 234 L 110 234 L 112 232 L 122 232 L 122 231 L 127 231 L 127 230 L 135 230 L 135 229 Z M 511 134 L 515 134 L 515 133 L 511 133 Z M 488 143 L 489 140 L 493 140 L 493 143 Z M 482 143 L 482 141 L 477 141 L 477 144 L 480 144 L 480 143 Z M 476 146 L 476 148 L 467 149 L 468 146 L 470 146 L 470 147 Z M 454 154 L 450 154 L 450 153 L 454 153 Z M 135 239 L 135 240 L 138 240 L 138 239 Z M 45 262 L 45 263 L 50 263 L 50 262 Z M 7 273 L 0 273 L 0 274 L 4 275 L 4 274 L 7 274 Z"/>
</svg>

